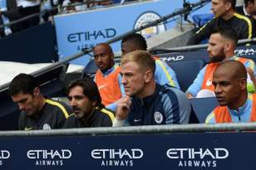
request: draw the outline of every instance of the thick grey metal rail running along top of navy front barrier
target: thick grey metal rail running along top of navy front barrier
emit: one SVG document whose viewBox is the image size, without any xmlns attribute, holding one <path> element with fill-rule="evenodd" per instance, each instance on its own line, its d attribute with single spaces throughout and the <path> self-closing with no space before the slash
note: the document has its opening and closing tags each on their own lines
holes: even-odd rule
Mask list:
<svg viewBox="0 0 256 170">
<path fill-rule="evenodd" d="M 256 122 L 185 124 L 185 125 L 148 125 L 100 128 L 75 128 L 34 131 L 0 131 L 0 137 L 21 136 L 79 136 L 115 134 L 159 134 L 159 133 L 199 133 L 199 132 L 243 132 L 255 131 Z"/>
</svg>

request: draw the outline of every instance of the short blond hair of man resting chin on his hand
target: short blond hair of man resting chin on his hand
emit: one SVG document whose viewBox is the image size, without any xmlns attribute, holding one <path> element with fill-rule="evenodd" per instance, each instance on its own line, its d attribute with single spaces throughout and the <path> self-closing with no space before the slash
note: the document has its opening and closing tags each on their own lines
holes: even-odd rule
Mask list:
<svg viewBox="0 0 256 170">
<path fill-rule="evenodd" d="M 155 60 L 147 51 L 136 50 L 123 55 L 123 57 L 121 58 L 121 65 L 129 62 L 135 62 L 139 65 L 141 69 L 150 69 L 153 73 L 155 73 Z"/>
</svg>

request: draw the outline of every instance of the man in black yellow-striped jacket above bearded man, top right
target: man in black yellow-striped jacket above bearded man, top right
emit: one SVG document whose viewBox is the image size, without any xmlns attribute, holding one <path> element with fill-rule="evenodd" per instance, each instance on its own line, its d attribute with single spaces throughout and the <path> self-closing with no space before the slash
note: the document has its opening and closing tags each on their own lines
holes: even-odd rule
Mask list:
<svg viewBox="0 0 256 170">
<path fill-rule="evenodd" d="M 238 39 L 252 38 L 252 21 L 236 13 L 236 0 L 212 0 L 212 12 L 215 17 L 201 27 L 189 40 L 187 45 L 199 44 L 208 39 L 216 27 L 231 27 L 236 31 Z"/>
</svg>

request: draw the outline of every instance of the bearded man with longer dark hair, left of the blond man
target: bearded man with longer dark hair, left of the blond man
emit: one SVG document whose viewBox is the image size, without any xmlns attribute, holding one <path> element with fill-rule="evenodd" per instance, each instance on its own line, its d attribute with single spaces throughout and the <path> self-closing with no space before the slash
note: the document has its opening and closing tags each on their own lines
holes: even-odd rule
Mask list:
<svg viewBox="0 0 256 170">
<path fill-rule="evenodd" d="M 74 114 L 66 121 L 65 128 L 112 126 L 114 114 L 104 108 L 97 85 L 85 77 L 72 83 L 67 90 Z"/>
</svg>

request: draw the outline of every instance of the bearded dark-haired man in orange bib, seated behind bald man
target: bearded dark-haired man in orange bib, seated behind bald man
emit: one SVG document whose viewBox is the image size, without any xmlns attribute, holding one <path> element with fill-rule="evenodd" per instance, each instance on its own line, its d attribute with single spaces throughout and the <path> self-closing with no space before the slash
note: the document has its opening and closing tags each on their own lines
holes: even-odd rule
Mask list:
<svg viewBox="0 0 256 170">
<path fill-rule="evenodd" d="M 188 98 L 195 97 L 202 89 L 214 91 L 214 86 L 212 84 L 213 72 L 221 62 L 226 60 L 237 60 L 243 63 L 255 86 L 255 63 L 250 59 L 234 55 L 237 41 L 238 36 L 232 28 L 224 27 L 213 30 L 207 48 L 210 56 L 210 63 L 200 70 L 193 84 L 189 86 L 186 92 Z"/>
</svg>

